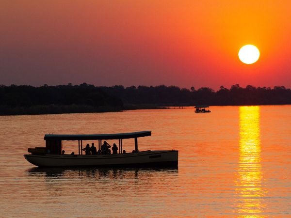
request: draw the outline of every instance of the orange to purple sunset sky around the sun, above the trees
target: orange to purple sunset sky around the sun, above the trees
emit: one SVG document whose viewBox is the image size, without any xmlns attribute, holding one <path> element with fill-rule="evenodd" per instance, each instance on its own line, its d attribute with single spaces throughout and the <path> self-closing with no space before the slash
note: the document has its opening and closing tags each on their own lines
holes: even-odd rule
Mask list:
<svg viewBox="0 0 291 218">
<path fill-rule="evenodd" d="M 290 0 L 0 0 L 0 84 L 283 85 Z M 252 44 L 260 58 L 244 64 Z"/>
</svg>

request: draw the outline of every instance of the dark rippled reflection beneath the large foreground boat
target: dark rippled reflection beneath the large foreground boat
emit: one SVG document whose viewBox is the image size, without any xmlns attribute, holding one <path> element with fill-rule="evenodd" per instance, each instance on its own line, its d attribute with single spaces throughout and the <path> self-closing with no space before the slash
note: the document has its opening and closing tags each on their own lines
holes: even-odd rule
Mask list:
<svg viewBox="0 0 291 218">
<path fill-rule="evenodd" d="M 53 196 L 53 204 L 56 201 L 60 204 L 70 202 L 71 196 L 76 195 L 81 202 L 100 199 L 92 202 L 92 208 L 100 208 L 106 198 L 112 199 L 111 203 L 114 202 L 117 208 L 125 202 L 140 202 L 145 198 L 141 193 L 146 192 L 148 198 L 151 198 L 157 194 L 158 187 L 167 187 L 171 182 L 178 183 L 178 167 L 32 168 L 27 171 L 27 175 L 28 180 L 34 184 L 33 192 L 44 196 L 49 191 L 49 196 Z M 171 191 L 167 188 L 159 190 L 159 194 Z M 72 204 L 75 205 L 75 202 Z M 82 217 L 81 214 L 78 216 Z"/>
</svg>

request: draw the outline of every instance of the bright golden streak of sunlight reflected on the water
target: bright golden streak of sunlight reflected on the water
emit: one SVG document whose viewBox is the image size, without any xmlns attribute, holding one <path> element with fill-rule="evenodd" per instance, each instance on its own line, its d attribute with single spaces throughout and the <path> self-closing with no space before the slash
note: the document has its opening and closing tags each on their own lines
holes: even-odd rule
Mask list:
<svg viewBox="0 0 291 218">
<path fill-rule="evenodd" d="M 240 107 L 239 152 L 236 213 L 261 217 L 266 191 L 262 187 L 259 106 Z"/>
</svg>

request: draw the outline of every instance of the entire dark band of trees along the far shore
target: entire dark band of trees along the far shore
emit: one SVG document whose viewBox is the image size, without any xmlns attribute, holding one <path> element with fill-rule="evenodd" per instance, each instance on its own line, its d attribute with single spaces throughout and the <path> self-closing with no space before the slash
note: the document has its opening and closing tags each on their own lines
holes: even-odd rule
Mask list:
<svg viewBox="0 0 291 218">
<path fill-rule="evenodd" d="M 230 89 L 215 92 L 177 86 L 96 87 L 87 83 L 33 87 L 0 85 L 0 115 L 32 115 L 88 112 L 117 112 L 131 109 L 164 109 L 194 105 L 288 105 L 291 90 L 284 86 Z"/>
</svg>

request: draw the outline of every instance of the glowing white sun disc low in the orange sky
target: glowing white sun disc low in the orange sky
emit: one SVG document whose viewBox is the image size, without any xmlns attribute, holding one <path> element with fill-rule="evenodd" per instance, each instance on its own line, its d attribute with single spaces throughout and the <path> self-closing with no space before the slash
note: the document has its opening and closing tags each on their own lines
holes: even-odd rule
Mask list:
<svg viewBox="0 0 291 218">
<path fill-rule="evenodd" d="M 239 51 L 241 62 L 252 64 L 259 60 L 259 49 L 253 45 L 245 45 Z"/>
</svg>

